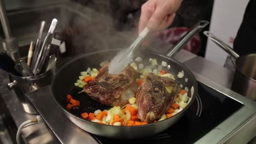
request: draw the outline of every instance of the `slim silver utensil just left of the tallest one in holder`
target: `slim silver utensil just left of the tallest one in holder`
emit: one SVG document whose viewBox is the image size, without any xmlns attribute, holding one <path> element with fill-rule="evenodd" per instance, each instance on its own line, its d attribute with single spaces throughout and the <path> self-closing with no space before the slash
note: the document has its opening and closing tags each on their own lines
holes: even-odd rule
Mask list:
<svg viewBox="0 0 256 144">
<path fill-rule="evenodd" d="M 36 64 L 36 60 L 38 58 L 38 54 L 39 54 L 39 51 L 40 51 L 40 46 L 41 46 L 41 42 L 42 42 L 42 35 L 43 35 L 44 25 L 45 25 L 45 21 L 42 21 L 41 25 L 40 25 L 38 37 L 37 37 L 37 40 L 36 40 L 36 44 L 34 44 L 34 54 L 33 54 L 32 63 L 31 63 L 31 69 L 32 70 L 34 69 L 34 66 Z"/>
</svg>

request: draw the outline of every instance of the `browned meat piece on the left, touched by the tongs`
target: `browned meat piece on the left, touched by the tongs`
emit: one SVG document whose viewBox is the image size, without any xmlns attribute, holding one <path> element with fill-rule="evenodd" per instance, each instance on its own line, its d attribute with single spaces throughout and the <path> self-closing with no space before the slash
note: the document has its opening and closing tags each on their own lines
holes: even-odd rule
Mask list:
<svg viewBox="0 0 256 144">
<path fill-rule="evenodd" d="M 136 95 L 136 78 L 137 72 L 130 65 L 118 75 L 109 74 L 106 65 L 94 80 L 85 85 L 84 91 L 102 104 L 123 106 Z"/>
</svg>

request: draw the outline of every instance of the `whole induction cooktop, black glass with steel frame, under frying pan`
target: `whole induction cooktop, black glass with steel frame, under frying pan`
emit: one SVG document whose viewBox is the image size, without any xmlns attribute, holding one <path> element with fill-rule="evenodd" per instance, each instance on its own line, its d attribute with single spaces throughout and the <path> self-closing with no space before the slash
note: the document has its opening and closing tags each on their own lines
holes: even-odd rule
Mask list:
<svg viewBox="0 0 256 144">
<path fill-rule="evenodd" d="M 198 95 L 185 115 L 171 128 L 141 140 L 149 143 L 243 143 L 251 140 L 256 128 L 256 103 L 200 75 L 195 76 Z M 95 136 L 77 127 L 56 104 L 49 86 L 28 93 L 27 97 L 60 143 L 134 142 Z"/>
</svg>

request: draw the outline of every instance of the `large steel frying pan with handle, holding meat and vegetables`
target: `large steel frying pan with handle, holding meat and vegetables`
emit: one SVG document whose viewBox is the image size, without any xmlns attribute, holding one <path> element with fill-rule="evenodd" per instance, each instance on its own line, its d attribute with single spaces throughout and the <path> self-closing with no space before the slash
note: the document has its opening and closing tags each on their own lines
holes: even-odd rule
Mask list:
<svg viewBox="0 0 256 144">
<path fill-rule="evenodd" d="M 181 40 L 182 43 L 184 41 L 189 41 L 189 39 L 193 38 L 193 33 L 198 33 L 199 31 L 193 31 L 193 29 L 202 29 L 206 25 L 208 25 L 207 21 L 201 21 L 196 23 L 195 27 L 192 28 L 188 34 L 183 37 Z M 187 39 L 187 40 L 184 40 Z M 181 44 L 177 44 L 179 46 L 183 46 Z M 179 50 L 179 49 L 175 49 Z M 172 52 L 172 51 L 171 51 Z M 94 112 L 97 109 L 109 109 L 109 106 L 102 105 L 95 100 L 92 100 L 86 93 L 79 93 L 82 89 L 75 87 L 74 82 L 77 80 L 77 77 L 80 75 L 80 71 L 84 71 L 88 67 L 90 68 L 99 68 L 99 64 L 107 60 L 108 58 L 112 58 L 118 53 L 118 50 L 102 50 L 87 53 L 83 56 L 77 57 L 72 61 L 63 65 L 63 67 L 57 72 L 56 76 L 51 83 L 51 92 L 53 93 L 53 97 L 56 103 L 61 107 L 63 113 L 67 118 L 69 118 L 74 124 L 78 127 L 88 131 L 89 133 L 100 135 L 104 137 L 112 137 L 115 139 L 135 139 L 138 137 L 150 136 L 165 129 L 171 127 L 174 123 L 176 123 L 188 110 L 188 107 L 193 103 L 197 94 L 197 81 L 193 75 L 193 73 L 185 67 L 180 62 L 174 60 L 173 58 L 161 55 L 155 52 L 149 51 L 139 51 L 136 52 L 135 57 L 139 56 L 144 59 L 141 63 L 148 63 L 149 58 L 156 58 L 158 61 L 166 61 L 171 69 L 167 70 L 167 73 L 172 73 L 176 76 L 176 82 L 183 85 L 183 87 L 188 87 L 191 89 L 194 87 L 194 93 L 191 94 L 191 90 L 189 91 L 189 97 L 191 97 L 191 102 L 188 104 L 185 109 L 181 112 L 177 113 L 171 118 L 165 119 L 161 122 L 149 123 L 147 125 L 134 126 L 134 127 L 116 127 L 113 125 L 103 125 L 94 122 L 87 121 L 81 118 L 80 114 L 83 112 Z M 167 53 L 168 55 L 169 53 Z M 173 55 L 172 55 L 173 56 Z M 106 58 L 106 59 L 104 59 Z M 109 59 L 108 59 L 109 60 Z M 179 79 L 177 74 L 179 71 L 184 71 L 184 77 Z M 63 77 L 65 80 L 63 81 Z M 188 82 L 185 82 L 185 78 L 188 78 Z M 66 109 L 66 95 L 71 94 L 72 97 L 76 100 L 80 101 L 80 108 L 69 111 Z"/>
</svg>

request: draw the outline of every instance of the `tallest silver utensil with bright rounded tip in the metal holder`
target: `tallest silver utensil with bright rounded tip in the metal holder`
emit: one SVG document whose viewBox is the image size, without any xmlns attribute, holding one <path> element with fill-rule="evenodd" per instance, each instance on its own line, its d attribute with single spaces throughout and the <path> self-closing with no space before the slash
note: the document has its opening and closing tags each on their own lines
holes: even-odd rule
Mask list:
<svg viewBox="0 0 256 144">
<path fill-rule="evenodd" d="M 57 25 L 57 19 L 53 19 L 51 21 L 51 26 L 49 28 L 49 31 L 44 38 L 44 42 L 42 45 L 42 48 L 39 52 L 35 67 L 33 69 L 33 73 L 35 75 L 39 74 L 40 71 L 42 70 L 43 64 L 45 63 L 46 57 L 48 57 L 49 51 L 50 51 L 50 45 L 51 45 L 51 40 L 53 39 L 53 33 Z"/>
</svg>

